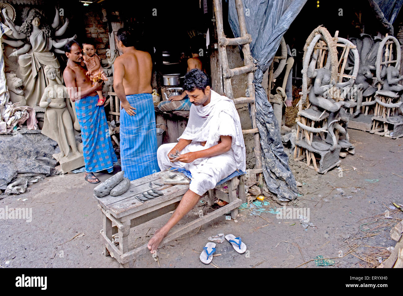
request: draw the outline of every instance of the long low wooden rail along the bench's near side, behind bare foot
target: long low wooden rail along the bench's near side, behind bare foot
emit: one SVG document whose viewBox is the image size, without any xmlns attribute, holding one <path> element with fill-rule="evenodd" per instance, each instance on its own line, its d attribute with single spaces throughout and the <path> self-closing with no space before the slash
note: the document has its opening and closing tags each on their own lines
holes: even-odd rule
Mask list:
<svg viewBox="0 0 403 296">
<path fill-rule="evenodd" d="M 172 231 L 171 234 L 168 234 L 160 243 L 160 246 L 170 242 L 171 240 L 175 240 L 179 238 L 180 236 L 183 236 L 187 232 L 196 229 L 203 224 L 206 224 L 221 215 L 224 215 L 225 213 L 228 213 L 229 211 L 235 209 L 236 207 L 239 207 L 241 205 L 242 201 L 240 199 L 237 199 L 236 201 L 233 201 L 232 203 L 229 203 L 228 205 L 224 205 L 224 207 L 221 207 L 220 209 L 216 209 L 215 211 L 208 213 L 204 215 L 203 217 L 200 217 L 192 222 L 189 222 L 183 226 L 179 226 Z M 123 255 L 120 256 L 120 263 L 126 263 L 129 262 L 130 260 L 135 259 L 135 257 L 143 253 L 144 251 L 148 251 L 147 244 L 143 244 L 142 246 L 139 246 L 138 248 L 135 248 L 134 250 L 131 250 Z"/>
</svg>

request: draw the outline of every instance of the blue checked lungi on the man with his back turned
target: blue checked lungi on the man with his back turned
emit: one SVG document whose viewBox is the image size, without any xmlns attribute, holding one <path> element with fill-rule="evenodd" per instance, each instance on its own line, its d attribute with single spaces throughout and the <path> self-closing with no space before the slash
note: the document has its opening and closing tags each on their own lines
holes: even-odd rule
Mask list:
<svg viewBox="0 0 403 296">
<path fill-rule="evenodd" d="M 133 181 L 160 171 L 151 93 L 127 95 L 136 110 L 133 116 L 120 109 L 120 160 L 125 177 Z"/>
</svg>

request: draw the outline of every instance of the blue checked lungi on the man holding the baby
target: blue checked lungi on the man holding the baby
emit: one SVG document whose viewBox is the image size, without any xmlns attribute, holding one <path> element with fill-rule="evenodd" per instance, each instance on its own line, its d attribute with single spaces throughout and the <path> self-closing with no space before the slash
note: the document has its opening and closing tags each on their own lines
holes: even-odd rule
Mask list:
<svg viewBox="0 0 403 296">
<path fill-rule="evenodd" d="M 85 97 L 75 104 L 87 173 L 112 172 L 113 164 L 118 161 L 110 140 L 104 106 L 96 106 L 97 102 L 98 95 Z"/>
</svg>

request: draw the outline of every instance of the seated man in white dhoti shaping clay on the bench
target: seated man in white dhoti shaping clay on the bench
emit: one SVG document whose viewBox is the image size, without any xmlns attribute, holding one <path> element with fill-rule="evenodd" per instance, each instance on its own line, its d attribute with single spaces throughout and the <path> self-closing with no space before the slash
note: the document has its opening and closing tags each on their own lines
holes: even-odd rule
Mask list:
<svg viewBox="0 0 403 296">
<path fill-rule="evenodd" d="M 245 143 L 237 109 L 231 99 L 219 95 L 209 85 L 208 76 L 201 70 L 193 69 L 185 75 L 183 88 L 192 103 L 189 122 L 178 143 L 158 148 L 161 170 L 185 168 L 192 179 L 168 222 L 148 242 L 151 253 L 207 190 L 236 170 L 245 171 Z M 172 157 L 178 151 L 179 156 Z"/>
</svg>

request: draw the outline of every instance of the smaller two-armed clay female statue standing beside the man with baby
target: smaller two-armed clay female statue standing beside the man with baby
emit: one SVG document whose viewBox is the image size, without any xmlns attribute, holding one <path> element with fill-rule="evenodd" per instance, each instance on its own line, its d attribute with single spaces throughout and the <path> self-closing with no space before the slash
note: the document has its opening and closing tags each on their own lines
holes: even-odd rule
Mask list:
<svg viewBox="0 0 403 296">
<path fill-rule="evenodd" d="M 57 69 L 48 65 L 44 68 L 49 79 L 39 106 L 46 108 L 42 134 L 56 141 L 60 148 L 60 157 L 68 156 L 70 147 L 73 155 L 79 155 L 73 133 L 72 118 L 74 115 L 67 99 L 67 89 L 56 82 Z M 69 108 L 69 109 L 68 109 Z"/>
</svg>

